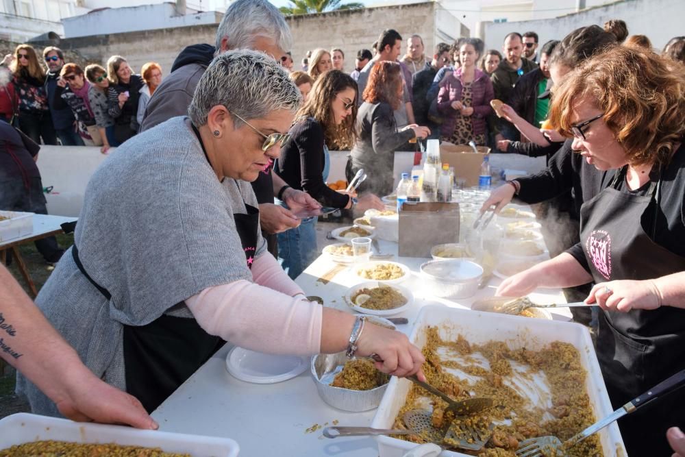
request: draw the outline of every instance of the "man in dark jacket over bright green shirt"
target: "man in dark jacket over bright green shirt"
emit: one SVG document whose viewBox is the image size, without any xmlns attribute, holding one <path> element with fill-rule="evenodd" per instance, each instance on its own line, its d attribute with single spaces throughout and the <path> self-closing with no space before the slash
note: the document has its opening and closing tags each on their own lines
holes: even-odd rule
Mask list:
<svg viewBox="0 0 685 457">
<path fill-rule="evenodd" d="M 519 116 L 536 127 L 540 127 L 540 123 L 547 119 L 549 90 L 552 85 L 552 80 L 549 79 L 548 62 L 549 56 L 558 43 L 558 40 L 545 43 L 540 51 L 540 68 L 526 73 L 519 79 L 509 101 L 509 105 Z M 512 139 L 519 138 L 519 132 L 516 132 Z"/>
</svg>

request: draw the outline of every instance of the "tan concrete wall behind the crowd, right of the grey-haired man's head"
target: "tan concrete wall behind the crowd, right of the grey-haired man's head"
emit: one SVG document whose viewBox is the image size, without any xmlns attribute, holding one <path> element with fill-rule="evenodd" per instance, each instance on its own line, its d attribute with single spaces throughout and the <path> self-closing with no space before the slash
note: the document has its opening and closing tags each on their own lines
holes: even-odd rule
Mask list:
<svg viewBox="0 0 685 457">
<path fill-rule="evenodd" d="M 406 38 L 421 35 L 431 55 L 436 42 L 454 40 L 462 33 L 458 19 L 437 2 L 301 14 L 288 16 L 286 21 L 292 31 L 295 69 L 300 68 L 307 51 L 339 47 L 345 53 L 345 71 L 350 72 L 357 51 L 371 49 L 383 29 L 395 29 L 404 38 L 402 53 Z"/>
</svg>

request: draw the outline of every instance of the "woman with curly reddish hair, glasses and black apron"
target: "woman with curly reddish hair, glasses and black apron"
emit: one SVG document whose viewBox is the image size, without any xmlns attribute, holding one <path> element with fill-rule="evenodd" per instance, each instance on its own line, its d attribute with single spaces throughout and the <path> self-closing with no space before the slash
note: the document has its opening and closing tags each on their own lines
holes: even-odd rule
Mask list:
<svg viewBox="0 0 685 457">
<path fill-rule="evenodd" d="M 620 408 L 685 369 L 685 68 L 614 47 L 566 75 L 550 119 L 588 164 L 616 172 L 583 204 L 580 243 L 497 293 L 594 281 L 585 302 L 601 307 L 597 358 Z M 664 434 L 682 425 L 683 410 L 680 391 L 668 407 L 621 419 L 627 454 L 671 455 Z"/>
</svg>

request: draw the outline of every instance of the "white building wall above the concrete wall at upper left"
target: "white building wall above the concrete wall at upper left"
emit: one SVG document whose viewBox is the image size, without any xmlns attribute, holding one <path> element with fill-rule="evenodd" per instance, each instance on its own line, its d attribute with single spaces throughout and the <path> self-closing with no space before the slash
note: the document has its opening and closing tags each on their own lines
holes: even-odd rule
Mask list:
<svg viewBox="0 0 685 457">
<path fill-rule="evenodd" d="M 179 16 L 173 3 L 161 3 L 92 11 L 82 16 L 65 18 L 62 23 L 64 36 L 75 38 L 190 25 L 214 25 L 219 23 L 222 17 L 223 14 L 217 12 L 192 10 L 188 10 L 188 14 Z"/>
</svg>

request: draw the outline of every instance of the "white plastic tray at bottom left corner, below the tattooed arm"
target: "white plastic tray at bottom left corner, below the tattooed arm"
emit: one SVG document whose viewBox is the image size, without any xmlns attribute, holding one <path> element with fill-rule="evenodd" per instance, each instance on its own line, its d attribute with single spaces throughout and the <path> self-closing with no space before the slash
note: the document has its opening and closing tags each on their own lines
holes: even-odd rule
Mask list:
<svg viewBox="0 0 685 457">
<path fill-rule="evenodd" d="M 164 452 L 190 454 L 192 457 L 236 457 L 240 450 L 238 443 L 229 438 L 73 422 L 27 412 L 0 420 L 0 449 L 42 440 L 160 447 Z"/>
</svg>

